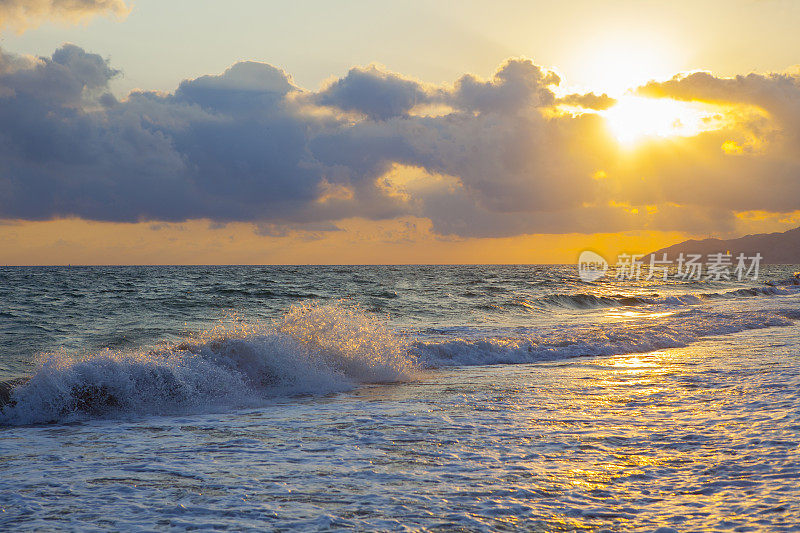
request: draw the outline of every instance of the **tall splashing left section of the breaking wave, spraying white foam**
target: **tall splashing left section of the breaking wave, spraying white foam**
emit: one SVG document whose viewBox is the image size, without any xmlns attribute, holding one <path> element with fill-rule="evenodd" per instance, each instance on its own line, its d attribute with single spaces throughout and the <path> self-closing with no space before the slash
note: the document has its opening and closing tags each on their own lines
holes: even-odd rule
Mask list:
<svg viewBox="0 0 800 533">
<path fill-rule="evenodd" d="M 404 380 L 415 364 L 404 339 L 358 309 L 296 305 L 269 326 L 220 326 L 152 351 L 46 354 L 0 424 L 249 405 Z"/>
</svg>

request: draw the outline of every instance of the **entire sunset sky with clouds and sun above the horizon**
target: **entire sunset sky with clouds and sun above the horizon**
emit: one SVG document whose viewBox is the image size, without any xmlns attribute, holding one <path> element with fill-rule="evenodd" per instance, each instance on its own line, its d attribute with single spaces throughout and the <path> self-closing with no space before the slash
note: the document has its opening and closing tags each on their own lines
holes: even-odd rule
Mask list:
<svg viewBox="0 0 800 533">
<path fill-rule="evenodd" d="M 571 263 L 800 225 L 800 2 L 0 0 L 0 265 Z"/>
</svg>

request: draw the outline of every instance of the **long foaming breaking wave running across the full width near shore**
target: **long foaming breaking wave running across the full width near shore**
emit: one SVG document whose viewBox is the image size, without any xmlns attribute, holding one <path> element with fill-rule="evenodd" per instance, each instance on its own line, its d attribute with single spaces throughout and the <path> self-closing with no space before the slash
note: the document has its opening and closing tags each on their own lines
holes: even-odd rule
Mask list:
<svg viewBox="0 0 800 533">
<path fill-rule="evenodd" d="M 298 304 L 270 325 L 220 325 L 154 350 L 43 355 L 29 380 L 5 390 L 0 384 L 0 425 L 258 406 L 275 397 L 409 380 L 424 368 L 644 353 L 798 319 L 794 309 L 686 308 L 653 320 L 550 332 L 403 333 L 359 308 Z"/>
</svg>

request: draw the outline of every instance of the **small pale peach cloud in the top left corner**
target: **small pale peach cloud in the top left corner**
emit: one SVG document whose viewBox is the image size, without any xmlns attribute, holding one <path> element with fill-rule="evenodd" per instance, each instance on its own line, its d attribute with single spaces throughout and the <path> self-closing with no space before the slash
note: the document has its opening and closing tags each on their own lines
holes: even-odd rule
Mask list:
<svg viewBox="0 0 800 533">
<path fill-rule="evenodd" d="M 71 23 L 97 15 L 127 15 L 123 0 L 0 0 L 0 30 L 36 27 L 46 20 Z"/>
</svg>

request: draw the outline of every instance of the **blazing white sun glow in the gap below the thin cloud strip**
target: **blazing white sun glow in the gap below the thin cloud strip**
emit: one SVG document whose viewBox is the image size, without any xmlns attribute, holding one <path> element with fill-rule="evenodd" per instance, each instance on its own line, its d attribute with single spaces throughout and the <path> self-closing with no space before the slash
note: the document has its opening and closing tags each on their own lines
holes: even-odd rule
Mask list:
<svg viewBox="0 0 800 533">
<path fill-rule="evenodd" d="M 658 138 L 692 137 L 713 127 L 713 113 L 704 106 L 667 98 L 626 95 L 603 115 L 610 133 L 626 146 Z"/>
</svg>

